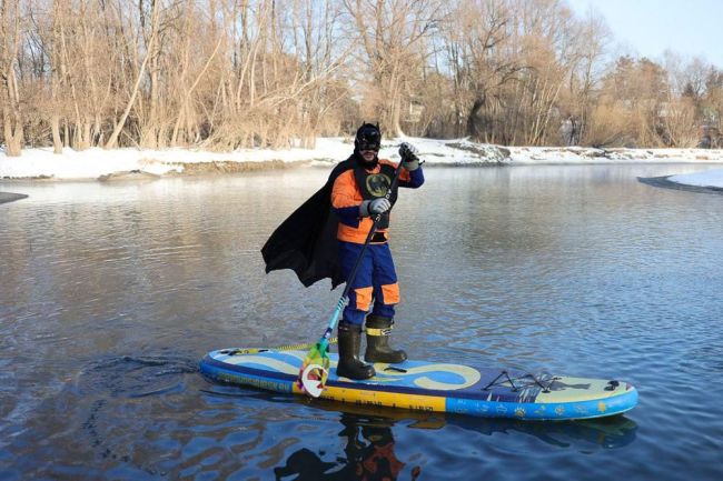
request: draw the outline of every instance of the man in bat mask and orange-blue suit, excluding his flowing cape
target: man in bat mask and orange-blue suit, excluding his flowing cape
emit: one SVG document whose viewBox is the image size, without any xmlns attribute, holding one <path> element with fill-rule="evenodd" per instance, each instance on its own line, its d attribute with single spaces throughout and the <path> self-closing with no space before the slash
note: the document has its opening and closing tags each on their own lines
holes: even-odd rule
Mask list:
<svg viewBox="0 0 723 481">
<path fill-rule="evenodd" d="M 394 307 L 399 302 L 399 284 L 389 250 L 389 210 L 397 199 L 397 188 L 416 189 L 424 183 L 424 174 L 416 149 L 403 144 L 403 169 L 392 196 L 396 164 L 379 159 L 382 132 L 378 126 L 365 123 L 357 130 L 354 153 L 349 158 L 353 168 L 340 173 L 331 186 L 331 207 L 339 224 L 337 229 L 339 264 L 344 279 L 348 280 L 357 258 L 361 253 L 372 218 L 382 214 L 368 248 L 364 252 L 358 271 L 350 280 L 349 302 L 339 322 L 339 363 L 337 374 L 350 379 L 368 379 L 375 372 L 359 359 L 361 327 L 366 318 L 367 362 L 397 363 L 407 359 L 406 352 L 389 347 L 394 325 Z M 367 312 L 372 308 L 372 313 Z"/>
</svg>

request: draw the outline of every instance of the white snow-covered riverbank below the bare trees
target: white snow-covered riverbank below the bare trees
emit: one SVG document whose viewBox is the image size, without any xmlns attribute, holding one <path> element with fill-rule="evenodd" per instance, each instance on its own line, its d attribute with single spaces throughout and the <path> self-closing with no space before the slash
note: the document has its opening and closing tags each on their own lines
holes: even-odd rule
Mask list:
<svg viewBox="0 0 723 481">
<path fill-rule="evenodd" d="M 469 142 L 466 139 L 393 139 L 383 146 L 380 157 L 398 159 L 400 141 L 414 143 L 427 166 L 519 166 L 583 163 L 711 163 L 723 164 L 723 150 L 704 149 L 593 149 L 497 147 Z M 318 139 L 315 149 L 242 149 L 234 152 L 210 152 L 190 149 L 24 149 L 21 157 L 0 153 L 0 179 L 108 180 L 125 177 L 245 171 L 283 168 L 295 164 L 327 164 L 348 157 L 349 139 Z M 682 184 L 723 188 L 723 169 L 693 174 L 671 176 L 667 181 Z"/>
</svg>

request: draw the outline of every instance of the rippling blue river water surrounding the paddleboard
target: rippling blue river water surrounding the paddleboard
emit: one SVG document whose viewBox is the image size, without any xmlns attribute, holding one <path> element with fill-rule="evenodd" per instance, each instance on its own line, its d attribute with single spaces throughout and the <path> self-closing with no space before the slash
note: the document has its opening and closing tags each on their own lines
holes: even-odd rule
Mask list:
<svg viewBox="0 0 723 481">
<path fill-rule="evenodd" d="M 0 479 L 721 480 L 723 197 L 705 166 L 428 168 L 392 247 L 410 358 L 625 380 L 590 422 L 365 411 L 214 384 L 228 347 L 309 342 L 340 290 L 259 249 L 328 169 L 0 183 Z M 376 477 L 376 478 L 375 478 Z"/>
</svg>

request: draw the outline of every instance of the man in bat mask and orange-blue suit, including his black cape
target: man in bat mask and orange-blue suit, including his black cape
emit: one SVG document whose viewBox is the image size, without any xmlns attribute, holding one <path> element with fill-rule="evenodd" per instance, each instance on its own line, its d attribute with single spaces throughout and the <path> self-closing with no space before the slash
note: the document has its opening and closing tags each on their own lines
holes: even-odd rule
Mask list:
<svg viewBox="0 0 723 481">
<path fill-rule="evenodd" d="M 395 178 L 397 164 L 378 158 L 380 147 L 378 126 L 359 127 L 351 156 L 334 168 L 326 184 L 289 216 L 261 249 L 266 272 L 293 269 L 306 287 L 329 278 L 331 288 L 336 288 L 353 278 L 347 285 L 348 304 L 338 324 L 337 374 L 358 380 L 375 374 L 374 368 L 359 358 L 365 318 L 367 362 L 396 363 L 407 359 L 406 352 L 389 347 L 394 307 L 399 302 L 397 274 L 387 243 L 389 210 L 397 199 L 397 189 L 420 187 L 424 174 L 417 150 L 403 143 L 403 163 Z M 380 216 L 379 221 L 365 248 L 376 216 Z M 351 275 L 357 259 L 359 265 Z"/>
</svg>

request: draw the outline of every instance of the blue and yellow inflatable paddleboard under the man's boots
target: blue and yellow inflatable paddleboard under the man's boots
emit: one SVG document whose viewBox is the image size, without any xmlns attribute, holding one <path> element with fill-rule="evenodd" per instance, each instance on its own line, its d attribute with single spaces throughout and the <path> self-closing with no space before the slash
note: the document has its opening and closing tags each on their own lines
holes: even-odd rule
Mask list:
<svg viewBox="0 0 723 481">
<path fill-rule="evenodd" d="M 208 378 L 268 391 L 303 394 L 297 383 L 304 351 L 222 349 L 200 362 Z M 621 414 L 637 404 L 637 391 L 615 380 L 531 374 L 425 361 L 376 363 L 377 374 L 354 381 L 336 374 L 337 354 L 323 399 L 363 405 L 525 420 L 591 419 Z"/>
</svg>

